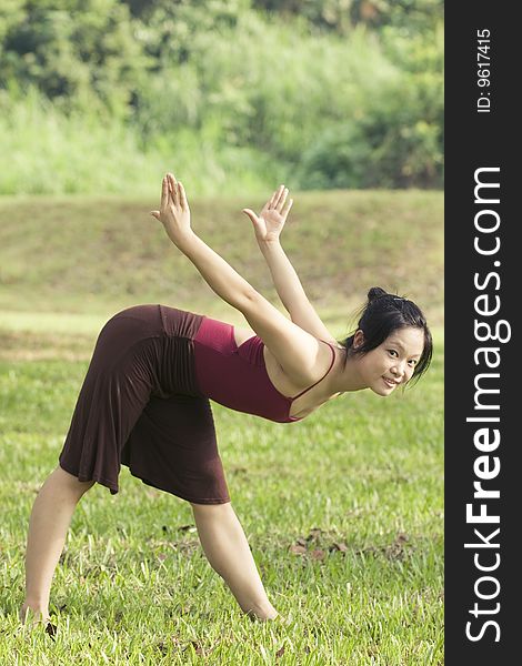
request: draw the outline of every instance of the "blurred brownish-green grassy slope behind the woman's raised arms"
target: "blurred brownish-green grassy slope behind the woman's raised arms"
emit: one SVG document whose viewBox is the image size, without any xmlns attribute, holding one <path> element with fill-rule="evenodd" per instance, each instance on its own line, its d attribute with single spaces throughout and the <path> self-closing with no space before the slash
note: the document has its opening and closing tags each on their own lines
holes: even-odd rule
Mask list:
<svg viewBox="0 0 522 666">
<path fill-rule="evenodd" d="M 294 198 L 282 244 L 322 316 L 344 327 L 368 289 L 380 285 L 418 301 L 432 324 L 442 323 L 442 192 L 329 191 Z M 191 201 L 192 226 L 275 303 L 251 223 L 241 213 L 262 203 Z M 154 201 L 121 198 L 1 199 L 0 327 L 13 327 L 10 322 L 22 313 L 98 321 L 145 302 L 227 311 L 234 319 L 237 313 L 149 216 L 153 208 Z"/>
</svg>

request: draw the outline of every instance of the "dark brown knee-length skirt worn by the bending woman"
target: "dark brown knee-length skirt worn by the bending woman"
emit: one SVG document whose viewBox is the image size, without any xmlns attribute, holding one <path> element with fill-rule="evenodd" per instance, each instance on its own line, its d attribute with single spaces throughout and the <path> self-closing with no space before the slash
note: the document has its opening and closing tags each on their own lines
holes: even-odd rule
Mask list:
<svg viewBox="0 0 522 666">
<path fill-rule="evenodd" d="M 195 381 L 192 340 L 202 320 L 137 305 L 107 322 L 59 456 L 66 472 L 116 494 L 123 464 L 188 502 L 230 502 L 211 406 Z"/>
</svg>

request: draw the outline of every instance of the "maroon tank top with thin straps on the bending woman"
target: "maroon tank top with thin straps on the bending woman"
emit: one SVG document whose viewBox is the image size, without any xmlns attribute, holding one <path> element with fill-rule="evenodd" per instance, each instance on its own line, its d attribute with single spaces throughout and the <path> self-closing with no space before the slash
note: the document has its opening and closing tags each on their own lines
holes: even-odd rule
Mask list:
<svg viewBox="0 0 522 666">
<path fill-rule="evenodd" d="M 199 389 L 207 397 L 238 412 L 278 423 L 302 421 L 303 417 L 290 416 L 293 401 L 319 384 L 335 361 L 333 346 L 322 342 L 332 350 L 327 373 L 299 395 L 287 397 L 275 389 L 267 373 L 261 337 L 254 335 L 238 346 L 231 324 L 204 316 L 193 339 Z"/>
</svg>

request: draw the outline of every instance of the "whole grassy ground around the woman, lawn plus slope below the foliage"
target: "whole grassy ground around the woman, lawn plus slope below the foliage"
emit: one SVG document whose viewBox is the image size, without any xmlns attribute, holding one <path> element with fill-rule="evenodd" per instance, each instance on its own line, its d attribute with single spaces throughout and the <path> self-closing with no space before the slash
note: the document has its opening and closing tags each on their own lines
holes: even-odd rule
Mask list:
<svg viewBox="0 0 522 666">
<path fill-rule="evenodd" d="M 401 292 L 424 295 L 419 301 L 438 325 L 428 375 L 388 400 L 345 394 L 287 425 L 213 405 L 233 506 L 269 597 L 291 623 L 251 623 L 207 563 L 188 503 L 122 467 L 118 495 L 97 484 L 74 513 L 51 594 L 54 637 L 19 627 L 27 525 L 34 496 L 57 465 L 99 327 L 128 303 L 188 305 L 191 290 L 202 312 L 243 322 L 215 296 L 209 300 L 187 260 L 164 246 L 161 230 L 126 235 L 126 229 L 140 228 L 143 202 L 0 203 L 9 212 L 2 215 L 0 270 L 2 278 L 11 275 L 0 289 L 0 663 L 443 663 L 441 222 L 433 212 L 440 213 L 441 195 L 308 196 L 295 229 L 288 229 L 289 254 L 302 266 L 309 292 L 309 285 L 319 289 L 314 275 L 328 294 L 344 285 L 344 299 L 319 299 L 335 335 L 347 321 L 337 304 L 362 301 L 358 290 L 367 275 L 377 275 L 368 286 L 390 286 L 388 274 Z M 203 238 L 215 238 L 257 286 L 268 284 L 251 230 L 231 244 L 233 226 L 241 224 L 239 218 L 224 222 L 232 205 L 197 202 L 193 209 L 219 211 L 213 220 L 223 220 L 221 226 L 202 215 Z M 396 244 L 378 233 L 384 218 Z M 310 242 L 302 243 L 305 233 Z M 328 246 L 331 270 L 317 264 L 320 244 Z M 87 254 L 91 260 L 81 265 Z M 362 275 L 351 270 L 355 262 Z M 170 281 L 168 266 L 177 274 Z M 138 291 L 117 294 L 133 269 Z M 99 292 L 92 292 L 89 280 L 97 275 Z"/>
</svg>

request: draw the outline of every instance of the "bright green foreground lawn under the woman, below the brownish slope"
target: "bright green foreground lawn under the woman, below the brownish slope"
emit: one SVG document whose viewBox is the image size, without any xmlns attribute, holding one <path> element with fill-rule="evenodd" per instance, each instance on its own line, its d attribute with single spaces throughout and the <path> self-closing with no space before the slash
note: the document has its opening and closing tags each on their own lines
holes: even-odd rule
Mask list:
<svg viewBox="0 0 522 666">
<path fill-rule="evenodd" d="M 28 516 L 57 463 L 87 363 L 3 361 L 0 658 L 442 664 L 440 341 L 436 349 L 415 390 L 387 401 L 344 396 L 301 424 L 214 405 L 233 505 L 289 627 L 245 618 L 194 528 L 182 528 L 193 525 L 189 505 L 122 467 L 120 494 L 96 485 L 73 516 L 52 589 L 54 642 L 20 632 L 16 614 Z M 291 552 L 298 544 L 305 553 Z"/>
</svg>

